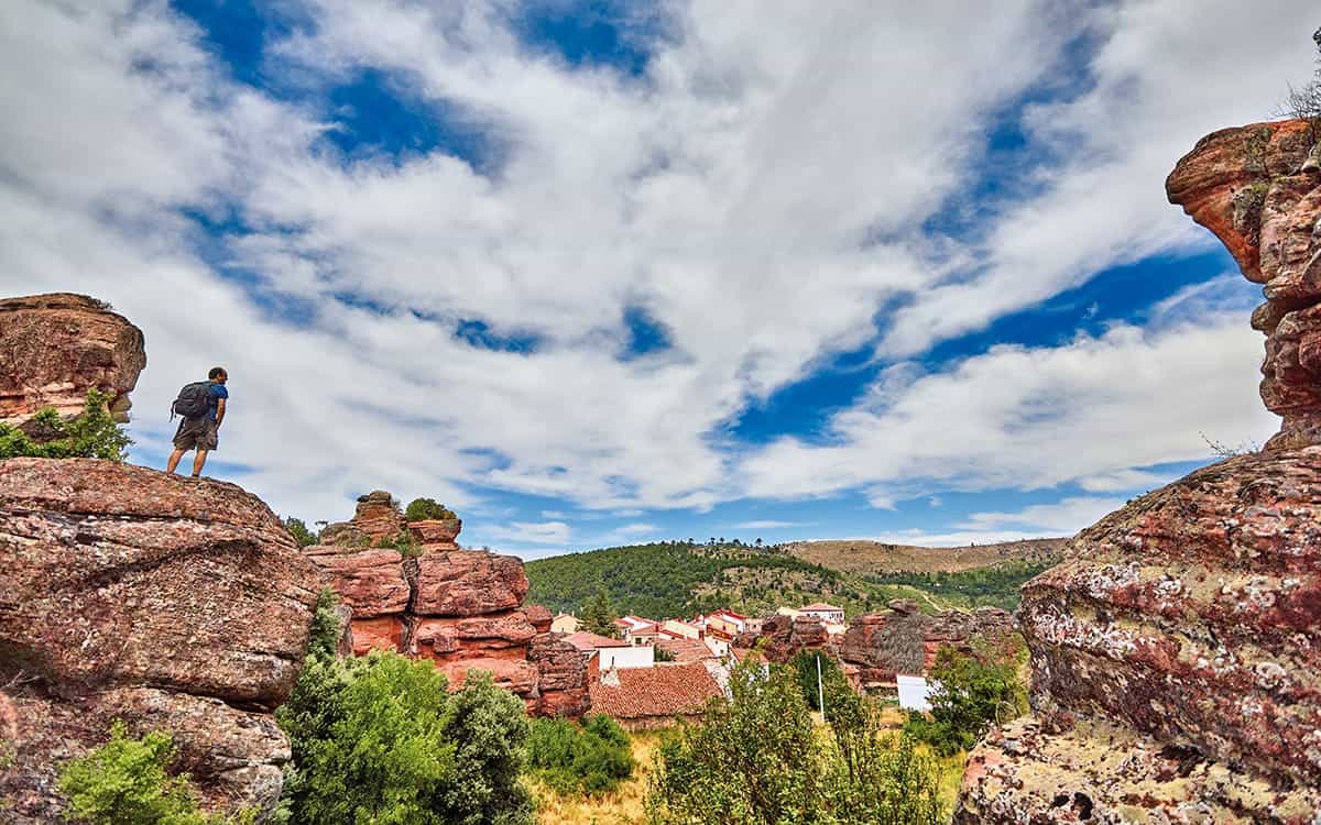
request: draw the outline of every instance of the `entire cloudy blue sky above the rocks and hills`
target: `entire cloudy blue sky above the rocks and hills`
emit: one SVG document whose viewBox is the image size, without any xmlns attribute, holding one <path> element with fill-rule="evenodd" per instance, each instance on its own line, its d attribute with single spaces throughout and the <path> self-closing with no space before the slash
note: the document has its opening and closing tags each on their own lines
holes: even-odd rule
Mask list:
<svg viewBox="0 0 1321 825">
<path fill-rule="evenodd" d="M 1277 425 L 1259 293 L 1162 183 L 1317 21 L 963 5 L 21 0 L 0 286 L 143 327 L 137 462 L 229 367 L 210 471 L 308 521 L 1067 535 Z"/>
</svg>

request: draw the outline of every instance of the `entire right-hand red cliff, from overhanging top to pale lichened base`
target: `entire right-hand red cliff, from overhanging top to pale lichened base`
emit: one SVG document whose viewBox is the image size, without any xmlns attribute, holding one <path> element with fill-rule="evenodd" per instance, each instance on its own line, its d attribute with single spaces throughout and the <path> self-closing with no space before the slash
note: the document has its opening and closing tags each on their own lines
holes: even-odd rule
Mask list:
<svg viewBox="0 0 1321 825">
<path fill-rule="evenodd" d="M 1024 589 L 1034 715 L 972 754 L 956 822 L 1287 822 L 1321 813 L 1321 162 L 1308 124 L 1217 132 L 1170 199 L 1267 302 L 1259 454 L 1079 533 Z"/>
</svg>

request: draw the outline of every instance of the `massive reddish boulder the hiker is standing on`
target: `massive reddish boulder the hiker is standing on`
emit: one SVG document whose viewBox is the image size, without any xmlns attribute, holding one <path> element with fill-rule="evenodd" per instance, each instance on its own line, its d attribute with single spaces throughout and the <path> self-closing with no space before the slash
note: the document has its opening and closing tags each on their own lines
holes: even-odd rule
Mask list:
<svg viewBox="0 0 1321 825">
<path fill-rule="evenodd" d="M 7 821 L 57 821 L 59 766 L 115 718 L 173 731 L 213 807 L 272 804 L 289 748 L 269 711 L 297 677 L 320 587 L 279 519 L 234 484 L 0 462 Z"/>
</svg>

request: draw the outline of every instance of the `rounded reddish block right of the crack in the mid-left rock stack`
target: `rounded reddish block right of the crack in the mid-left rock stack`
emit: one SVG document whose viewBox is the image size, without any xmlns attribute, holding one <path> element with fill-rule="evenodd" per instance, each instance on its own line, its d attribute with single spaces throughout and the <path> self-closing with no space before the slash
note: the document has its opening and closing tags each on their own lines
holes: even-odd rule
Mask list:
<svg viewBox="0 0 1321 825">
<path fill-rule="evenodd" d="M 424 553 L 417 558 L 413 611 L 428 616 L 472 616 L 515 610 L 527 595 L 527 573 L 513 556 L 480 550 Z"/>
</svg>

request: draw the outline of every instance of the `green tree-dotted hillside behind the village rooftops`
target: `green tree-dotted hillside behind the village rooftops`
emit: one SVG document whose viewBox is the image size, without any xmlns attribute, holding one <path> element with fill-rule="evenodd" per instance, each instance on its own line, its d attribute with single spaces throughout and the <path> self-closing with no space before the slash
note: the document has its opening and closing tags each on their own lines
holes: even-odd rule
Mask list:
<svg viewBox="0 0 1321 825">
<path fill-rule="evenodd" d="M 764 615 L 781 606 L 827 601 L 845 615 L 911 598 L 923 610 L 1013 609 L 1018 586 L 1050 561 L 1011 560 L 954 572 L 860 574 L 799 558 L 781 546 L 660 541 L 530 561 L 528 601 L 552 611 L 581 611 L 605 597 L 618 614 L 687 616 L 731 607 Z"/>
</svg>

